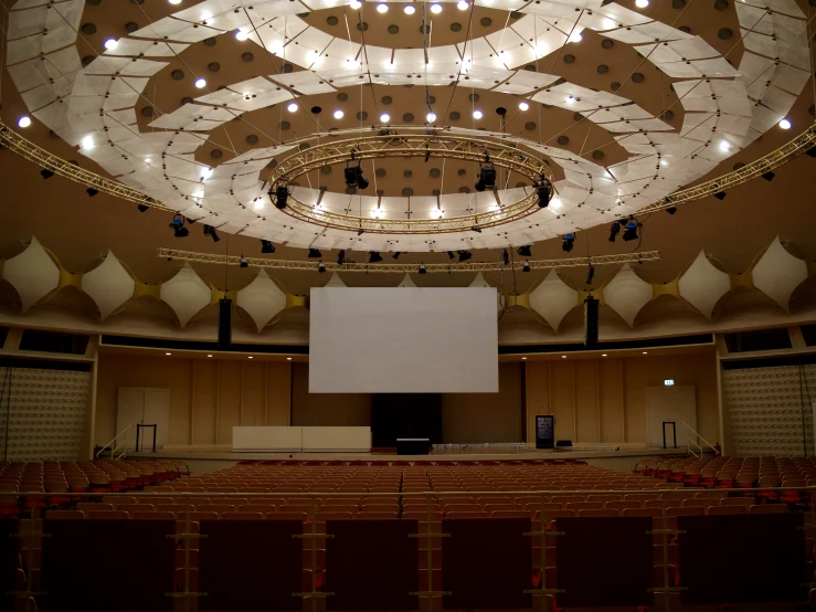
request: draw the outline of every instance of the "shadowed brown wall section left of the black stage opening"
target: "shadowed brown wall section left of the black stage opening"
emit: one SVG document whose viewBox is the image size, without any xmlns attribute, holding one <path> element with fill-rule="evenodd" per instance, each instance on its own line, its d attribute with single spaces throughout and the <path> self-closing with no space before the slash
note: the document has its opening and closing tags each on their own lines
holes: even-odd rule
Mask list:
<svg viewBox="0 0 816 612">
<path fill-rule="evenodd" d="M 301 426 L 369 426 L 369 393 L 309 393 L 309 365 L 292 368 L 292 424 Z"/>
</svg>

